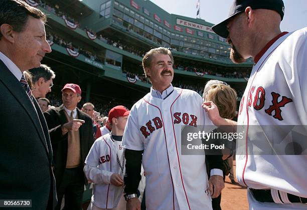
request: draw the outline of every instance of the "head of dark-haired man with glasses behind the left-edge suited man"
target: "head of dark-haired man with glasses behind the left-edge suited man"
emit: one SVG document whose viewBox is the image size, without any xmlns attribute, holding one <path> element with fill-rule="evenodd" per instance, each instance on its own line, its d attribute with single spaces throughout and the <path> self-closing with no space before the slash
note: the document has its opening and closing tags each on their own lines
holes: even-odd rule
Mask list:
<svg viewBox="0 0 307 210">
<path fill-rule="evenodd" d="M 29 70 L 32 74 L 32 94 L 35 98 L 46 97 L 51 92 L 55 73 L 48 65 L 41 64 L 38 68 Z"/>
</svg>

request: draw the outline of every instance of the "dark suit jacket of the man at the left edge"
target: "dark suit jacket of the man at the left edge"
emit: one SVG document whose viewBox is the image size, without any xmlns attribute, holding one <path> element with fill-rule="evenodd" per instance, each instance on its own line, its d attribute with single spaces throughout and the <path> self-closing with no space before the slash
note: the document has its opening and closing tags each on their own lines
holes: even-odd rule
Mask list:
<svg viewBox="0 0 307 210">
<path fill-rule="evenodd" d="M 34 105 L 0 60 L 0 199 L 32 199 L 31 209 L 53 209 L 52 148 L 35 98 Z"/>
</svg>

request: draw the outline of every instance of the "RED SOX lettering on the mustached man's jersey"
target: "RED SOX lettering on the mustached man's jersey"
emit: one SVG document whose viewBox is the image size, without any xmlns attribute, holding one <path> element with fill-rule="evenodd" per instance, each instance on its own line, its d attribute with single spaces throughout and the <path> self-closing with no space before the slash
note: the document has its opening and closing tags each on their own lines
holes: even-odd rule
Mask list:
<svg viewBox="0 0 307 210">
<path fill-rule="evenodd" d="M 197 127 L 197 116 L 195 116 L 194 114 L 188 114 L 185 112 L 181 115 L 181 112 L 175 112 L 174 118 L 175 118 L 174 124 L 179 124 L 183 122 L 184 124 L 189 124 L 191 126 Z M 146 124 L 141 126 L 139 130 L 142 132 L 144 137 L 147 138 L 147 136 L 150 135 L 150 133 L 162 128 L 162 126 L 163 126 L 162 120 L 160 119 L 159 116 L 157 116 L 152 120 L 146 122 Z"/>
</svg>

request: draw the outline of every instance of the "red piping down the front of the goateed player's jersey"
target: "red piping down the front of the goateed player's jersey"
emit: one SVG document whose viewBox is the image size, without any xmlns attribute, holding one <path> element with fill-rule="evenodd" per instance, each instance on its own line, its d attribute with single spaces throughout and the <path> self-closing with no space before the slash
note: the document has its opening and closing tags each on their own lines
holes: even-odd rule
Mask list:
<svg viewBox="0 0 307 210">
<path fill-rule="evenodd" d="M 288 32 L 282 32 L 282 33 L 280 33 L 280 34 L 282 34 L 282 35 L 284 35 L 284 34 L 286 34 L 286 33 L 288 33 Z M 279 34 L 279 35 L 280 35 Z M 281 36 L 281 35 L 280 35 Z M 280 37 L 279 36 L 279 37 Z M 276 36 L 277 37 L 277 36 Z M 277 38 L 278 39 L 278 38 Z M 275 41 L 277 40 L 277 39 L 275 39 Z M 273 40 L 273 39 L 272 39 Z M 271 45 L 273 44 L 274 42 L 272 42 L 271 43 Z M 244 168 L 243 168 L 243 171 L 242 171 L 242 179 L 243 179 L 243 182 L 244 182 L 244 184 L 247 186 L 247 184 L 245 183 L 245 180 L 244 180 L 244 173 L 245 173 L 245 169 L 246 169 L 246 164 L 247 164 L 247 159 L 248 159 L 248 150 L 247 150 L 247 148 L 248 148 L 248 145 L 247 145 L 247 137 L 248 137 L 248 128 L 249 128 L 249 115 L 248 115 L 248 99 L 249 99 L 249 94 L 250 94 L 250 89 L 251 89 L 251 87 L 253 86 L 252 84 L 253 84 L 253 81 L 254 81 L 254 79 L 255 79 L 255 77 L 256 77 L 256 75 L 257 75 L 257 72 L 258 72 L 258 70 L 260 69 L 260 67 L 262 66 L 262 64 L 264 63 L 264 61 L 266 60 L 266 58 L 277 48 L 279 46 L 279 44 L 263 59 L 263 61 L 262 61 L 262 63 L 259 65 L 259 67 L 258 67 L 258 69 L 256 70 L 256 73 L 255 73 L 255 75 L 254 75 L 254 77 L 253 77 L 253 80 L 252 80 L 252 82 L 250 83 L 250 86 L 249 86 L 249 90 L 248 90 L 248 94 L 247 94 L 247 99 L 246 99 L 246 115 L 247 115 L 247 127 L 246 127 L 246 136 L 245 136 L 245 152 L 246 152 L 246 157 L 245 157 L 245 164 L 244 164 Z M 266 50 L 265 50 L 266 51 Z M 264 53 L 265 53 L 265 51 L 264 51 Z M 263 54 L 262 54 L 263 55 Z M 261 58 L 261 57 L 260 57 Z M 259 59 L 260 59 L 259 58 Z"/>
</svg>

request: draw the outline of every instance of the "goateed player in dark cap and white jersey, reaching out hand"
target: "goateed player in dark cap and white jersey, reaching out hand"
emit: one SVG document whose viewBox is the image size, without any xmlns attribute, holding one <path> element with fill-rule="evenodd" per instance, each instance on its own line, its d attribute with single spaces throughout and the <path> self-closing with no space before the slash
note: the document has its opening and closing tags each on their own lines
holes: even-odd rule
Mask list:
<svg viewBox="0 0 307 210">
<path fill-rule="evenodd" d="M 307 208 L 307 156 L 292 145 L 306 140 L 306 128 L 300 126 L 297 138 L 292 127 L 307 124 L 307 27 L 281 32 L 283 15 L 282 0 L 234 0 L 229 17 L 212 27 L 228 39 L 234 62 L 255 62 L 240 103 L 238 128 L 245 134 L 236 150 L 236 175 L 248 187 L 250 209 Z M 214 124 L 235 124 L 212 101 L 204 107 Z M 294 152 L 285 152 L 287 146 Z M 269 150 L 274 153 L 263 152 Z"/>
</svg>

